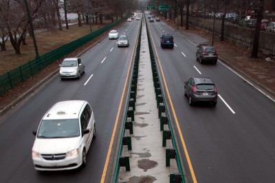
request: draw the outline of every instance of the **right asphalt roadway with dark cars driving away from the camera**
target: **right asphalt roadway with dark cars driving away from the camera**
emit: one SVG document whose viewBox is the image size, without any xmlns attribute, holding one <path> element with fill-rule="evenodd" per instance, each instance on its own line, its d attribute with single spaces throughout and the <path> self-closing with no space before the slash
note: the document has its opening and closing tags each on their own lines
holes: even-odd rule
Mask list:
<svg viewBox="0 0 275 183">
<path fill-rule="evenodd" d="M 274 101 L 221 62 L 196 61 L 203 38 L 190 42 L 164 22 L 149 25 L 188 182 L 274 182 Z M 164 33 L 173 34 L 174 49 L 160 47 Z M 189 106 L 184 82 L 195 76 L 214 80 L 216 107 Z"/>
</svg>

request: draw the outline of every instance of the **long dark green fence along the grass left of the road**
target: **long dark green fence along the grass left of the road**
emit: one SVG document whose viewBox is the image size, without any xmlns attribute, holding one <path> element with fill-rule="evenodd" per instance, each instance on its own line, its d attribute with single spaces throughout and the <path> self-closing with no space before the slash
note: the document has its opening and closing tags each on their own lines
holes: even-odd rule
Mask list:
<svg viewBox="0 0 275 183">
<path fill-rule="evenodd" d="M 124 19 L 126 19 L 128 16 L 129 15 L 125 16 L 119 21 L 116 21 L 114 23 L 111 23 L 109 25 L 102 27 L 101 29 L 98 29 L 96 32 L 93 32 L 91 34 L 88 34 L 87 36 L 84 36 L 82 38 L 69 42 L 67 45 L 63 45 L 58 49 L 54 49 L 49 53 L 45 53 L 43 56 L 40 56 L 39 58 L 31 60 L 30 62 L 23 64 L 17 67 L 16 69 L 13 69 L 12 71 L 9 71 L 8 73 L 1 75 L 0 76 L 0 97 L 3 96 L 5 93 L 7 93 L 8 90 L 17 86 L 19 83 L 24 82 L 25 80 L 28 80 L 30 77 L 39 73 L 46 66 L 52 64 L 53 62 L 56 62 L 56 60 L 63 58 L 67 54 L 78 49 L 78 47 L 85 45 L 87 42 L 93 40 L 103 32 L 106 32 L 108 29 L 110 29 L 114 25 L 117 25 L 118 23 L 124 21 Z"/>
</svg>

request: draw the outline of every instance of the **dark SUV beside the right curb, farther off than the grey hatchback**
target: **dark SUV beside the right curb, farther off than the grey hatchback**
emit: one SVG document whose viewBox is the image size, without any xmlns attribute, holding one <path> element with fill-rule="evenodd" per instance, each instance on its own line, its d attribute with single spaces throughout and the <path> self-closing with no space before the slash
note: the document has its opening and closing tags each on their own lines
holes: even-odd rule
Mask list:
<svg viewBox="0 0 275 183">
<path fill-rule="evenodd" d="M 202 64 L 203 62 L 214 62 L 217 64 L 218 53 L 212 46 L 199 45 L 197 46 L 196 59 Z"/>
</svg>

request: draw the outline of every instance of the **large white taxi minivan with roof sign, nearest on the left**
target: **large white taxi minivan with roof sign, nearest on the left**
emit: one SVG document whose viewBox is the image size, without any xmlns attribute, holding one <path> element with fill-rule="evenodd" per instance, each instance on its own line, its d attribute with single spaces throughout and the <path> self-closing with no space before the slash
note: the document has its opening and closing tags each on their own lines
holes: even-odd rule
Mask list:
<svg viewBox="0 0 275 183">
<path fill-rule="evenodd" d="M 86 154 L 96 136 L 94 112 L 87 101 L 60 101 L 46 112 L 33 132 L 34 168 L 41 171 L 85 166 Z"/>
</svg>

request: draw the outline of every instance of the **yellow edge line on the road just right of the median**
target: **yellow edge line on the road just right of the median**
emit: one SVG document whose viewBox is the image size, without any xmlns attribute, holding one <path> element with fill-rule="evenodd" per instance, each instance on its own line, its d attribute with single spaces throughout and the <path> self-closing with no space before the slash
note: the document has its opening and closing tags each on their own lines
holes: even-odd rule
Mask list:
<svg viewBox="0 0 275 183">
<path fill-rule="evenodd" d="M 155 50 L 155 53 L 156 53 L 156 57 L 157 57 L 157 62 L 159 63 L 159 68 L 160 68 L 160 71 L 162 73 L 162 78 L 164 80 L 164 86 L 165 86 L 165 89 L 167 91 L 167 95 L 168 95 L 168 99 L 169 99 L 169 102 L 170 102 L 170 106 L 172 108 L 172 112 L 173 112 L 173 115 L 174 115 L 174 118 L 175 118 L 175 123 L 177 125 L 177 130 L 179 131 L 179 137 L 181 139 L 181 144 L 182 144 L 182 147 L 184 147 L 184 153 L 185 153 L 185 156 L 186 156 L 186 160 L 188 162 L 188 166 L 189 166 L 189 169 L 190 169 L 190 173 L 192 175 L 192 180 L 193 182 L 197 183 L 197 179 L 196 179 L 196 176 L 195 176 L 195 173 L 194 173 L 194 170 L 192 168 L 192 163 L 191 163 L 191 160 L 190 160 L 190 157 L 189 157 L 189 154 L 188 154 L 188 151 L 187 151 L 187 147 L 186 147 L 186 144 L 184 142 L 184 136 L 182 136 L 182 133 L 181 133 L 181 129 L 179 127 L 179 121 L 177 120 L 177 114 L 175 113 L 175 109 L 174 109 L 174 105 L 173 105 L 173 102 L 172 102 L 172 99 L 170 97 L 170 93 L 169 93 L 169 90 L 168 90 L 168 87 L 167 87 L 167 84 L 166 84 L 166 80 L 165 80 L 165 77 L 164 77 L 164 72 L 162 70 L 162 64 L 160 64 L 160 60 L 159 60 L 159 56 L 157 54 L 157 49 L 155 49 L 155 42 L 153 40 L 153 36 L 151 34 L 151 29 L 149 27 L 149 32 L 150 32 L 150 35 L 151 35 L 151 38 L 152 38 L 152 42 L 153 42 L 153 45 L 154 45 L 154 50 Z"/>
</svg>

